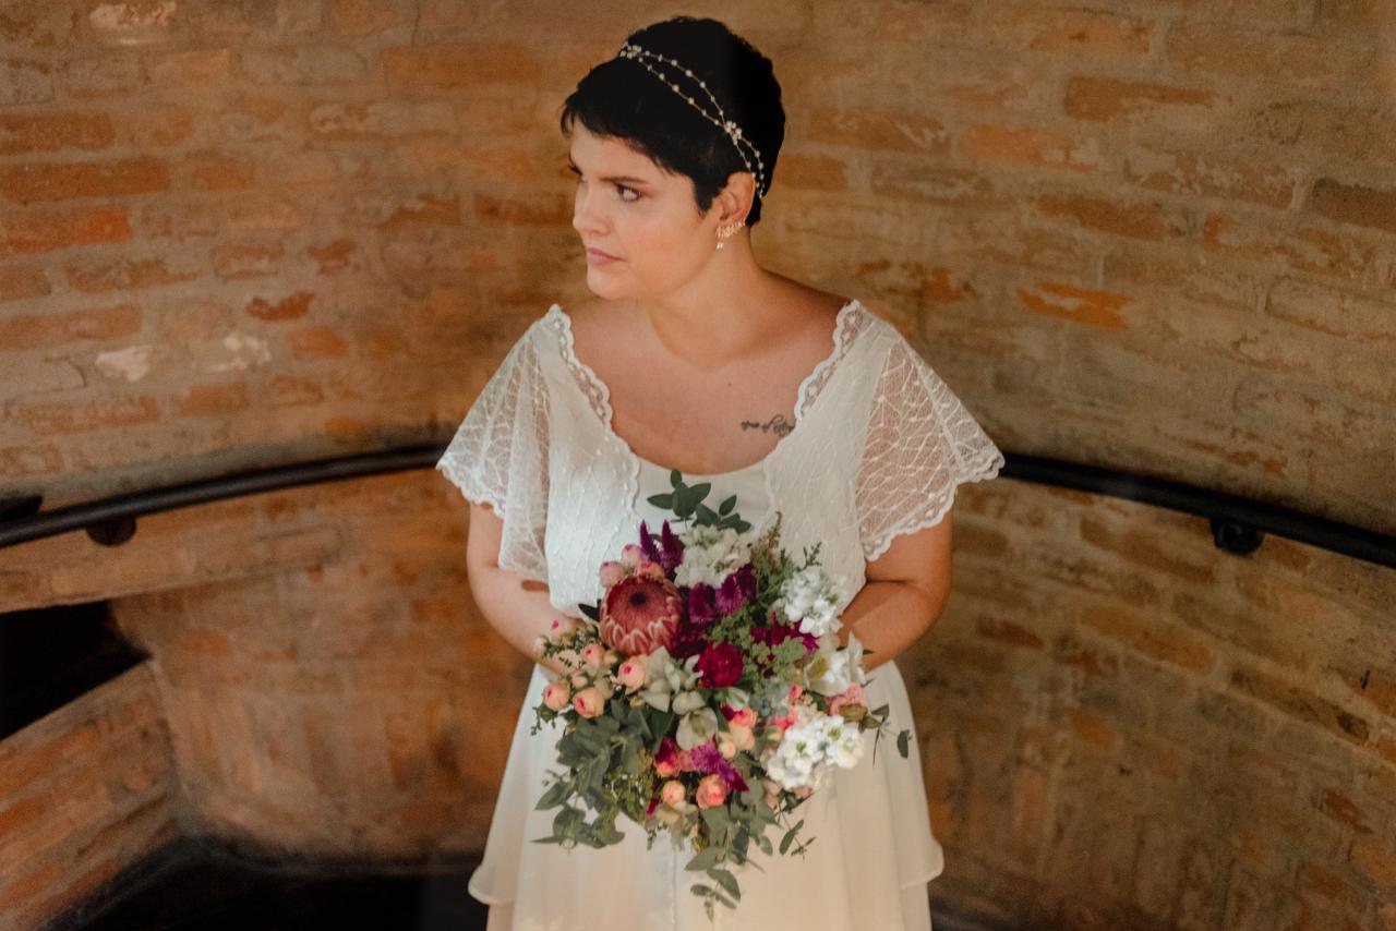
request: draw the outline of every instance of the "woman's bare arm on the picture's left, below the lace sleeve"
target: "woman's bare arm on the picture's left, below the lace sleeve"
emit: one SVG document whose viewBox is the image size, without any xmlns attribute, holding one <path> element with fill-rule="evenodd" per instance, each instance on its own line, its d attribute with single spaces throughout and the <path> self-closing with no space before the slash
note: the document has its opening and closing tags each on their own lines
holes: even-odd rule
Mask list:
<svg viewBox="0 0 1396 931">
<path fill-rule="evenodd" d="M 465 544 L 465 568 L 475 603 L 490 627 L 524 653 L 557 676 L 565 667 L 556 656 L 543 659 L 536 649 L 553 621 L 561 614 L 549 600 L 549 588 L 518 572 L 498 567 L 501 521 L 489 505 L 470 501 L 470 529 Z"/>
</svg>

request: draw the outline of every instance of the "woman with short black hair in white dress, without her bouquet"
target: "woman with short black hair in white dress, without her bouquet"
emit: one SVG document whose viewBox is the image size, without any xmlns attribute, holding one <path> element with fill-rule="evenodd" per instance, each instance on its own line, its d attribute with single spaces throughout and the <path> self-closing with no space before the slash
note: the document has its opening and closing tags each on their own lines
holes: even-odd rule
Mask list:
<svg viewBox="0 0 1396 931">
<path fill-rule="evenodd" d="M 852 596 L 840 639 L 866 648 L 868 705 L 914 722 L 892 660 L 949 589 L 955 487 L 993 477 L 997 447 L 900 334 L 859 300 L 762 268 L 761 219 L 785 134 L 771 61 L 712 20 L 641 29 L 567 98 L 574 226 L 596 295 L 553 304 L 511 348 L 437 468 L 472 502 L 466 561 L 489 621 L 536 662 L 558 614 L 602 593 L 597 567 L 637 539 L 670 469 L 737 496 L 759 533 L 821 543 Z M 800 856 L 740 871 L 734 911 L 704 913 L 690 853 L 646 844 L 532 843 L 560 729 L 532 709 L 561 671 L 535 666 L 470 893 L 489 928 L 926 930 L 944 867 L 920 755 L 885 745 L 797 810 Z M 871 744 L 871 736 L 868 737 Z M 871 750 L 871 747 L 868 748 Z M 752 847 L 755 850 L 755 847 Z"/>
</svg>

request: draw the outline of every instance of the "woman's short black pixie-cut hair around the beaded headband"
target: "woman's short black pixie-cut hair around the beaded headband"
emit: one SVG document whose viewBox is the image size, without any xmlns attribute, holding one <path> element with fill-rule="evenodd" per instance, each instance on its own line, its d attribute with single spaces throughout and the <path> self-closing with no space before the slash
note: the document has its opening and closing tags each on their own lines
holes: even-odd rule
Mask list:
<svg viewBox="0 0 1396 931">
<path fill-rule="evenodd" d="M 674 17 L 632 32 L 625 40 L 677 59 L 702 78 L 727 119 L 736 120 L 741 134 L 761 152 L 769 190 L 776 155 L 785 141 L 780 82 L 771 59 L 718 20 Z M 683 87 L 690 78 L 678 73 L 671 80 Z M 704 103 L 711 112 L 711 102 Z M 571 134 L 574 121 L 581 121 L 595 135 L 625 142 L 670 174 L 687 176 L 694 184 L 698 211 L 704 214 L 727 186 L 727 177 L 747 170 L 726 133 L 628 59 L 603 61 L 578 81 L 577 89 L 563 102 L 558 123 L 564 135 Z M 754 169 L 750 151 L 747 158 Z M 761 195 L 752 198 L 747 226 L 761 219 L 762 200 Z"/>
</svg>

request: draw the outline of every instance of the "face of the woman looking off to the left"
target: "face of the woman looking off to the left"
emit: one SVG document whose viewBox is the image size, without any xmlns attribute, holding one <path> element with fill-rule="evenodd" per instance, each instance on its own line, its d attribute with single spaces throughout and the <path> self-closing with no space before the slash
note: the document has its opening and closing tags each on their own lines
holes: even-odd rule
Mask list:
<svg viewBox="0 0 1396 931">
<path fill-rule="evenodd" d="M 712 261 L 718 211 L 698 212 L 687 176 L 669 174 L 581 123 L 572 127 L 570 156 L 577 174 L 572 226 L 586 248 L 586 286 L 593 293 L 664 295 Z"/>
</svg>

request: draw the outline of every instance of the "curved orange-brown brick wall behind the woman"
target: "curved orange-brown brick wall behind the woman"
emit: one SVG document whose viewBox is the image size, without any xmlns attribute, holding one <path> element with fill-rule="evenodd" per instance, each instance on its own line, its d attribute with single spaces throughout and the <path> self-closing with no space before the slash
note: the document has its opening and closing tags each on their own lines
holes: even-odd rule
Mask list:
<svg viewBox="0 0 1396 931">
<path fill-rule="evenodd" d="M 557 107 L 669 13 L 6 4 L 0 494 L 444 440 L 585 295 Z M 711 13 L 785 85 L 758 254 L 892 320 L 1000 445 L 1396 530 L 1390 0 Z M 470 606 L 463 533 L 438 476 L 383 477 L 0 551 L 0 593 L 123 599 L 187 829 L 469 847 L 512 724 L 472 697 L 526 669 Z M 966 490 L 956 547 L 902 662 L 937 898 L 1396 927 L 1392 572 L 1011 482 Z"/>
</svg>

